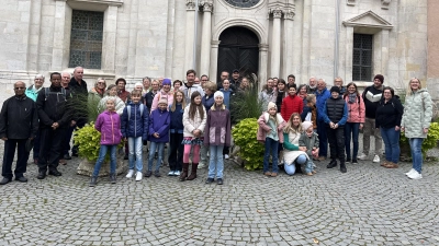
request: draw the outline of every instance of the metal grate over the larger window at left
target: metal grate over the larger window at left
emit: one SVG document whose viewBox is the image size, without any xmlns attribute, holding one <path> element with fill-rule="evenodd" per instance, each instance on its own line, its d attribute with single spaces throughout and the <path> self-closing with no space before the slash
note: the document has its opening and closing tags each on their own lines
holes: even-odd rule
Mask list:
<svg viewBox="0 0 439 246">
<path fill-rule="evenodd" d="M 69 67 L 101 69 L 103 13 L 74 10 Z"/>
</svg>

